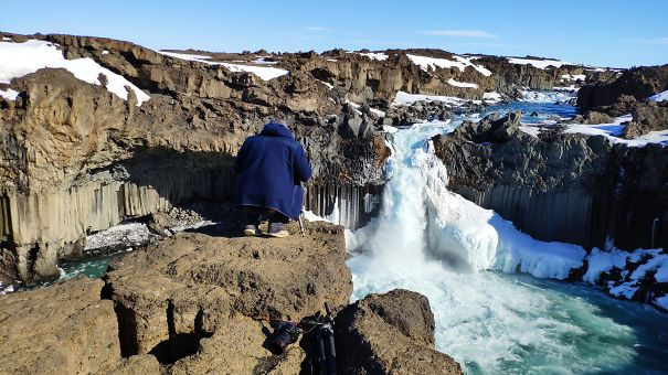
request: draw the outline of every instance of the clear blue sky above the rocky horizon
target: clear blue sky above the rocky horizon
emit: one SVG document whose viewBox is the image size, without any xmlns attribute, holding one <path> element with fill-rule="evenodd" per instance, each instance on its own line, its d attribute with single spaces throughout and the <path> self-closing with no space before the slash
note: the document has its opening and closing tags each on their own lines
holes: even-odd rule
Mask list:
<svg viewBox="0 0 668 375">
<path fill-rule="evenodd" d="M 3 1 L 0 30 L 152 49 L 435 47 L 627 67 L 668 63 L 668 0 Z"/>
</svg>

